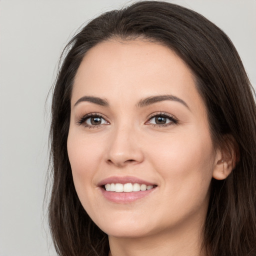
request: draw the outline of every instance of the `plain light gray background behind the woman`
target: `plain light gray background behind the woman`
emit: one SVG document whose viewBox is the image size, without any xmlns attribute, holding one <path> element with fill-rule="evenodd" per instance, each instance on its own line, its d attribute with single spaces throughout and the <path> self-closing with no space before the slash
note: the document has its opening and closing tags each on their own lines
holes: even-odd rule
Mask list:
<svg viewBox="0 0 256 256">
<path fill-rule="evenodd" d="M 55 255 L 43 206 L 49 101 L 64 45 L 86 20 L 133 1 L 0 0 L 0 256 Z M 173 0 L 221 27 L 256 85 L 256 0 Z"/>
</svg>

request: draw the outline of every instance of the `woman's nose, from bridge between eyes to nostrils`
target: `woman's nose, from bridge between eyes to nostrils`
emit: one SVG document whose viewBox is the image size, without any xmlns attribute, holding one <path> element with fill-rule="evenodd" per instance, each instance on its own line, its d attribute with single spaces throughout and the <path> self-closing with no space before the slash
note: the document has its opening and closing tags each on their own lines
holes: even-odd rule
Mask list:
<svg viewBox="0 0 256 256">
<path fill-rule="evenodd" d="M 107 162 L 118 167 L 140 163 L 144 159 L 139 132 L 127 125 L 123 126 L 112 131 L 107 151 Z"/>
</svg>

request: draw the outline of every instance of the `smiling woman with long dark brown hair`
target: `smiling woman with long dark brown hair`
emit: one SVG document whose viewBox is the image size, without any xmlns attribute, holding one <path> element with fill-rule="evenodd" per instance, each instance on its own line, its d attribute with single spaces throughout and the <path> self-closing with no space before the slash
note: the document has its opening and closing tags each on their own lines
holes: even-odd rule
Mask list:
<svg viewBox="0 0 256 256">
<path fill-rule="evenodd" d="M 228 37 L 184 7 L 103 13 L 52 99 L 59 255 L 256 255 L 255 103 Z"/>
</svg>

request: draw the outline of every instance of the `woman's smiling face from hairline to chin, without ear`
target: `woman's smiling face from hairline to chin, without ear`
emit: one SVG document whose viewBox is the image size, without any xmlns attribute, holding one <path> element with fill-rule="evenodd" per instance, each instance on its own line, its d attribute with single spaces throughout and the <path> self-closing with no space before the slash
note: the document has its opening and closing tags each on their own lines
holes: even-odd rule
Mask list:
<svg viewBox="0 0 256 256">
<path fill-rule="evenodd" d="M 204 222 L 217 159 L 193 74 L 167 47 L 108 40 L 86 53 L 67 150 L 78 197 L 107 234 Z"/>
</svg>

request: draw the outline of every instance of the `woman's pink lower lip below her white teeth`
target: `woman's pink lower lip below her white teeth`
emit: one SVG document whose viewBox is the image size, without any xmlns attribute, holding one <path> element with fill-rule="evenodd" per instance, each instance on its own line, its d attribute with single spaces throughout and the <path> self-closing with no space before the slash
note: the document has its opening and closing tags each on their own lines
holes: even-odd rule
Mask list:
<svg viewBox="0 0 256 256">
<path fill-rule="evenodd" d="M 102 187 L 100 190 L 103 196 L 108 201 L 115 202 L 115 203 L 130 203 L 149 195 L 153 190 L 155 190 L 155 188 L 156 187 L 145 190 L 145 191 L 137 191 L 137 192 L 111 192 L 111 191 L 106 191 Z"/>
</svg>

